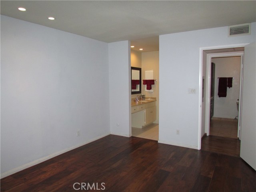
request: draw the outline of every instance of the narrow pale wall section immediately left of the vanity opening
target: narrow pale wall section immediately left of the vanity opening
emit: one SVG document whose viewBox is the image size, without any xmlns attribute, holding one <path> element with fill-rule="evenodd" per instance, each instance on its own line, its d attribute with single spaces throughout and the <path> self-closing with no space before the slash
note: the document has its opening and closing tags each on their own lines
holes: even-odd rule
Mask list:
<svg viewBox="0 0 256 192">
<path fill-rule="evenodd" d="M 108 44 L 110 132 L 131 136 L 130 42 Z M 102 92 L 104 94 L 104 92 Z"/>
</svg>

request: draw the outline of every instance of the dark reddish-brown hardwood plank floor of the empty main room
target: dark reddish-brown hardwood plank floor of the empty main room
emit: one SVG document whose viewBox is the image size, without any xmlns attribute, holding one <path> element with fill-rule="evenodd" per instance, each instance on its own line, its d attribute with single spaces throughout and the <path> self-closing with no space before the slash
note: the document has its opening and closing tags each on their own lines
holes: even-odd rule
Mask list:
<svg viewBox="0 0 256 192">
<path fill-rule="evenodd" d="M 254 192 L 255 181 L 238 157 L 109 135 L 1 179 L 1 191 Z"/>
</svg>

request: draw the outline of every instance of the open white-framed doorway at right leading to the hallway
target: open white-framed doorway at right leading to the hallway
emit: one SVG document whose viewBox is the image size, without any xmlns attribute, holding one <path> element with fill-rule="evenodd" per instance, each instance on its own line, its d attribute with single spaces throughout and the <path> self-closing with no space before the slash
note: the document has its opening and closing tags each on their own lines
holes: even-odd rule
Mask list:
<svg viewBox="0 0 256 192">
<path fill-rule="evenodd" d="M 202 150 L 240 155 L 238 101 L 242 88 L 240 69 L 243 51 L 243 47 L 203 51 L 202 75 L 206 83 L 203 86 L 205 98 L 202 98 L 201 131 L 205 133 L 201 134 Z M 211 67 L 213 64 L 214 68 Z M 231 79 L 231 86 L 226 83 L 224 95 L 220 93 L 223 91 L 219 86 L 220 78 Z"/>
</svg>

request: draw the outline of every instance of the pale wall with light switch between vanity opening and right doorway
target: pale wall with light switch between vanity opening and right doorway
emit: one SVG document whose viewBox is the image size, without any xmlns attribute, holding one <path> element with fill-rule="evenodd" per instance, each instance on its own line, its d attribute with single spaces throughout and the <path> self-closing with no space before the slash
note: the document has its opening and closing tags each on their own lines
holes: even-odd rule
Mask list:
<svg viewBox="0 0 256 192">
<path fill-rule="evenodd" d="M 236 37 L 228 37 L 228 26 L 160 36 L 159 142 L 198 148 L 200 48 L 254 42 L 255 23 L 251 29 Z"/>
</svg>

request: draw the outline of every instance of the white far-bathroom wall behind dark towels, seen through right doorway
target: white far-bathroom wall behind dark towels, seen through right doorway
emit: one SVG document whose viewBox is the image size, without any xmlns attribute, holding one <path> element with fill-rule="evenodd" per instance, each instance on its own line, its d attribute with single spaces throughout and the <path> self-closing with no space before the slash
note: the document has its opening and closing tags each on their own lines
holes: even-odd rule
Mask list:
<svg viewBox="0 0 256 192">
<path fill-rule="evenodd" d="M 241 57 L 212 58 L 212 62 L 215 63 L 214 117 L 234 119 L 238 116 L 236 101 L 239 99 Z M 218 97 L 218 77 L 234 77 L 226 97 Z"/>
</svg>

